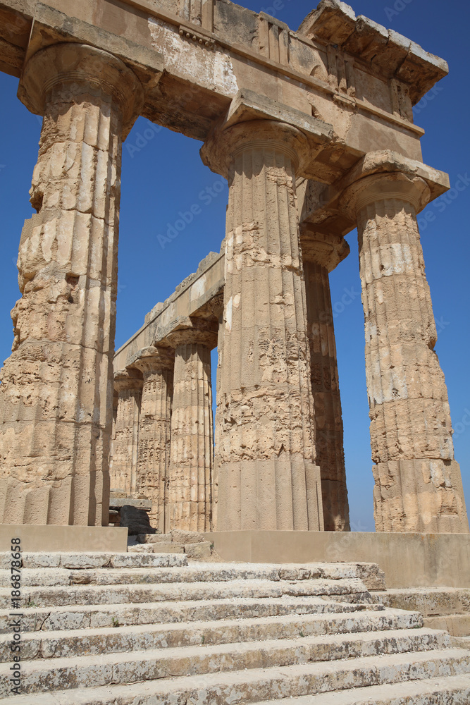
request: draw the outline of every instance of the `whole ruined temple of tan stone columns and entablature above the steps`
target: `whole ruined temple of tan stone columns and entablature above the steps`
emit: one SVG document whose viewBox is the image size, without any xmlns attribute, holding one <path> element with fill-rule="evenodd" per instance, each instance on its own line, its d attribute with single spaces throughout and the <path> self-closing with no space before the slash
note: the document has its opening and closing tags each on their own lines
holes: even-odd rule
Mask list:
<svg viewBox="0 0 470 705">
<path fill-rule="evenodd" d="M 111 487 L 148 498 L 161 532 L 347 532 L 328 276 L 357 228 L 376 529 L 468 533 L 417 224 L 449 188 L 412 114 L 445 61 L 337 0 L 297 32 L 227 0 L 0 0 L 0 18 L 0 68 L 43 116 L 0 522 L 107 526 Z M 115 354 L 138 116 L 204 142 L 227 221 Z"/>
</svg>

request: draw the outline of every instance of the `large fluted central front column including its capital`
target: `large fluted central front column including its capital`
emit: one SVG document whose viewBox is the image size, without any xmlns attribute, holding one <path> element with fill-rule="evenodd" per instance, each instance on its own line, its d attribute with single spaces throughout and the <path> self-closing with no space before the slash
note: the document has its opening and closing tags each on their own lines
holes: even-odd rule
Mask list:
<svg viewBox="0 0 470 705">
<path fill-rule="evenodd" d="M 228 176 L 217 529 L 323 529 L 295 173 L 308 152 L 269 120 L 202 148 Z"/>
</svg>

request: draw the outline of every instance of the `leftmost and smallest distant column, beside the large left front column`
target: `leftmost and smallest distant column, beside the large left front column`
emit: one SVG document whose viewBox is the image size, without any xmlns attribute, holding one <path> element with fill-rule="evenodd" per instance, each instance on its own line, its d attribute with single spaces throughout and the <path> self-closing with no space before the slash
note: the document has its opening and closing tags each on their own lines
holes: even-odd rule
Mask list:
<svg viewBox="0 0 470 705">
<path fill-rule="evenodd" d="M 139 441 L 142 374 L 123 369 L 114 375 L 114 389 L 118 393 L 118 408 L 111 443 L 109 477 L 111 489 L 137 491 L 137 444 Z"/>
</svg>

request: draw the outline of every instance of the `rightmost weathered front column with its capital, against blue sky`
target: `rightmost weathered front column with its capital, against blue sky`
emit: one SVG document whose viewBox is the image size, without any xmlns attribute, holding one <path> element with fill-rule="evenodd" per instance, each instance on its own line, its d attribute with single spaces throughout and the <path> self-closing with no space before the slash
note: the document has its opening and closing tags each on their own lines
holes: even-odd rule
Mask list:
<svg viewBox="0 0 470 705">
<path fill-rule="evenodd" d="M 377 531 L 469 531 L 416 213 L 426 182 L 404 173 L 347 190 L 357 214 Z"/>
</svg>

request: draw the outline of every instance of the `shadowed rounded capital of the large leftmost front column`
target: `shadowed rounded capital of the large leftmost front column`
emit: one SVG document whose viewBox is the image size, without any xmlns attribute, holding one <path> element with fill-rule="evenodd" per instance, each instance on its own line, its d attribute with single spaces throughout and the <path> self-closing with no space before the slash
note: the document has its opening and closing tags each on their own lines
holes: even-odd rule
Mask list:
<svg viewBox="0 0 470 705">
<path fill-rule="evenodd" d="M 144 90 L 135 73 L 113 54 L 89 44 L 64 42 L 37 51 L 26 63 L 18 97 L 32 113 L 44 115 L 49 95 L 61 86 L 73 94 L 87 86 L 112 97 L 122 111 L 123 137 L 144 102 Z"/>
</svg>

